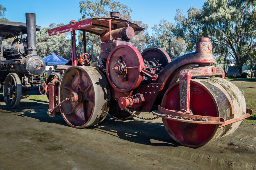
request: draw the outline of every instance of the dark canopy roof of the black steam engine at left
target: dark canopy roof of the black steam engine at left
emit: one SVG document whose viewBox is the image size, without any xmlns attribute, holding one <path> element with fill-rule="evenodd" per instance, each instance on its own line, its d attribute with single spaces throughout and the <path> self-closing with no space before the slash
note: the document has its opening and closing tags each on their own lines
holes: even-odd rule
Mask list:
<svg viewBox="0 0 256 170">
<path fill-rule="evenodd" d="M 36 31 L 40 30 L 40 26 L 36 26 Z M 24 22 L 0 21 L 0 36 L 2 39 L 12 38 L 27 33 L 27 25 Z"/>
</svg>

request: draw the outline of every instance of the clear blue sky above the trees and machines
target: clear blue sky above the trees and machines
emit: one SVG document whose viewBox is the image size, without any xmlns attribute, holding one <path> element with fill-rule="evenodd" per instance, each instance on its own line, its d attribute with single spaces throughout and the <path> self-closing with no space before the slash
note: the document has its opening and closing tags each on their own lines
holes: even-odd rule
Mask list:
<svg viewBox="0 0 256 170">
<path fill-rule="evenodd" d="M 68 24 L 69 21 L 81 18 L 79 12 L 79 1 L 60 1 L 60 0 L 1 0 L 0 5 L 6 8 L 5 18 L 10 21 L 26 22 L 25 13 L 36 13 L 36 25 L 48 27 L 51 23 Z M 118 0 L 116 0 L 118 1 Z M 176 0 L 176 1 L 150 1 L 150 0 L 119 0 L 127 5 L 133 11 L 131 17 L 133 20 L 142 21 L 148 24 L 148 32 L 151 35 L 151 27 L 158 24 L 164 18 L 168 22 L 174 23 L 176 9 L 183 9 L 187 12 L 191 6 L 202 8 L 205 0 Z"/>
</svg>

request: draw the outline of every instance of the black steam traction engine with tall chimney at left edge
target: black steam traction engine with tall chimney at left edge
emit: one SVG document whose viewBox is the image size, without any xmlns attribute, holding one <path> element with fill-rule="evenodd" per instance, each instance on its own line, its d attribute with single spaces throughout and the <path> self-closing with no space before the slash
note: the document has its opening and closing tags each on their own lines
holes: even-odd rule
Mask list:
<svg viewBox="0 0 256 170">
<path fill-rule="evenodd" d="M 9 108 L 20 103 L 21 98 L 38 95 L 45 62 L 37 55 L 36 15 L 26 13 L 26 22 L 0 21 L 0 91 Z M 27 33 L 26 38 L 19 38 Z M 2 40 L 13 38 L 12 46 L 4 48 Z"/>
</svg>

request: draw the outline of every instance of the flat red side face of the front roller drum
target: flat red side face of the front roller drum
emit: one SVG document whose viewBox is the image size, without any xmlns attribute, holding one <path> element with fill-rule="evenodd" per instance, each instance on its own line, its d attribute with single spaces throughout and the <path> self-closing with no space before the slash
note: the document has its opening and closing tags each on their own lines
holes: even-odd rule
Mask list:
<svg viewBox="0 0 256 170">
<path fill-rule="evenodd" d="M 190 90 L 190 109 L 195 115 L 219 116 L 215 102 L 208 91 L 193 81 Z M 167 90 L 162 100 L 162 107 L 180 110 L 179 82 Z M 217 125 L 178 122 L 162 118 L 169 135 L 178 143 L 188 147 L 200 147 L 214 136 Z"/>
</svg>

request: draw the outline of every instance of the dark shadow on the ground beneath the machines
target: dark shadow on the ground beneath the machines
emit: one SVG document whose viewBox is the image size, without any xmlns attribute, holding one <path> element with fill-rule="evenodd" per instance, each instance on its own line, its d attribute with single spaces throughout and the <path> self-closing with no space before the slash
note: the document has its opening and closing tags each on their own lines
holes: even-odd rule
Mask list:
<svg viewBox="0 0 256 170">
<path fill-rule="evenodd" d="M 0 101 L 1 98 L 2 96 L 0 95 Z M 49 107 L 48 103 L 43 100 L 33 101 L 23 101 L 16 109 L 9 109 L 5 105 L 0 105 L 0 108 L 3 109 L 3 112 L 12 113 L 13 115 L 22 117 L 31 117 L 37 119 L 38 122 L 56 123 L 63 126 L 68 126 L 61 115 L 57 115 L 56 117 L 49 117 L 47 115 L 47 110 Z M 176 143 L 169 136 L 162 122 L 144 121 L 134 118 L 122 121 L 116 120 L 110 115 L 107 115 L 103 122 L 86 129 L 97 130 L 138 144 L 173 147 L 180 146 L 180 144 Z"/>
</svg>

